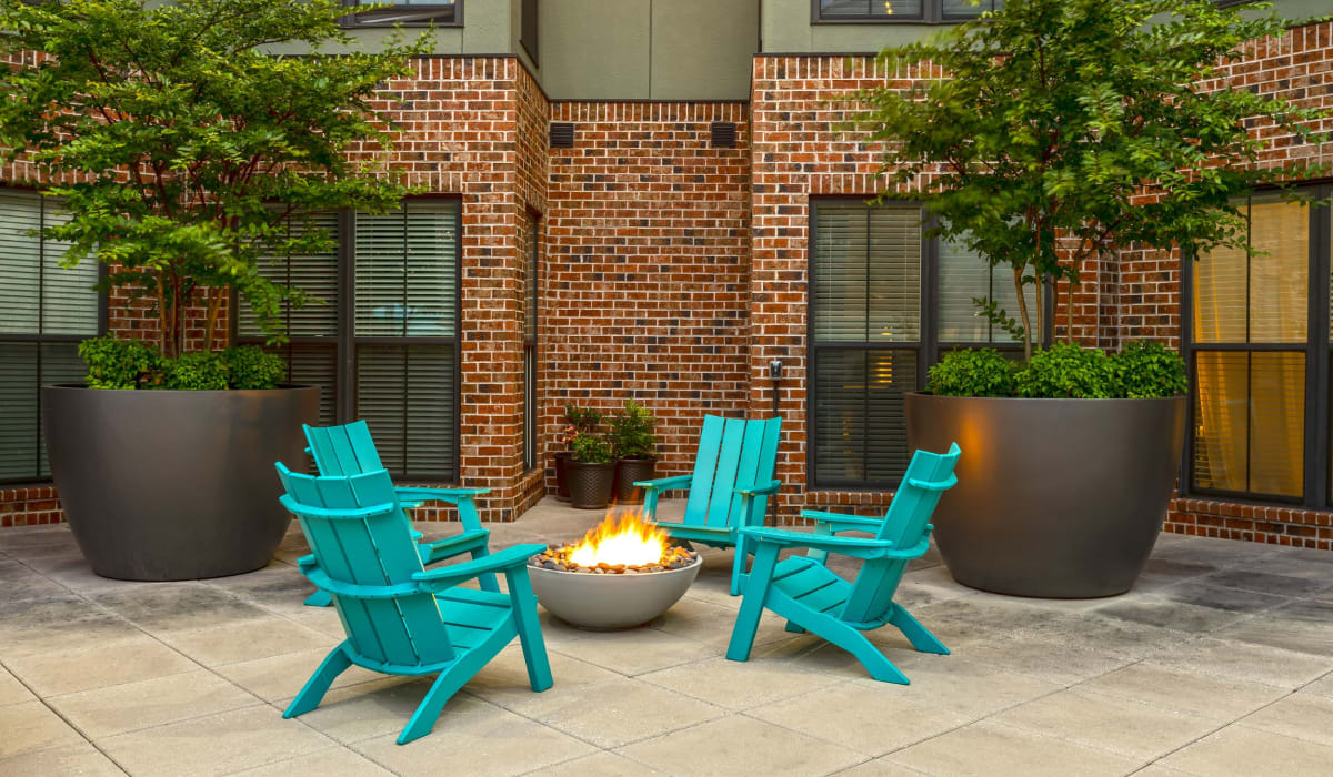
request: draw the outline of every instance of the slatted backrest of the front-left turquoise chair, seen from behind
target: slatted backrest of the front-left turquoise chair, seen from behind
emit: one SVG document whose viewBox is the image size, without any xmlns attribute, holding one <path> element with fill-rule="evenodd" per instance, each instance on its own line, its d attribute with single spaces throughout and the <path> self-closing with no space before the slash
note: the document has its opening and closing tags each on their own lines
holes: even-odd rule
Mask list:
<svg viewBox="0 0 1333 777">
<path fill-rule="evenodd" d="M 277 464 L 287 489 L 283 504 L 296 513 L 320 569 L 335 582 L 381 589 L 375 596 L 333 593 L 352 648 L 375 661 L 415 666 L 453 658 L 449 634 L 431 593 L 389 594 L 423 572 L 416 542 L 393 481 L 384 469 L 355 476 L 309 476 Z M 371 516 L 360 508 L 385 505 Z M 313 510 L 311 508 L 315 508 Z M 341 514 L 340 514 L 341 513 Z M 351 514 L 349 514 L 351 513 Z"/>
</svg>

